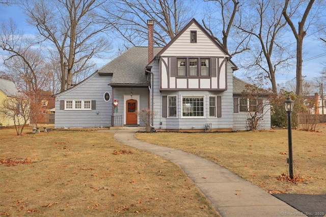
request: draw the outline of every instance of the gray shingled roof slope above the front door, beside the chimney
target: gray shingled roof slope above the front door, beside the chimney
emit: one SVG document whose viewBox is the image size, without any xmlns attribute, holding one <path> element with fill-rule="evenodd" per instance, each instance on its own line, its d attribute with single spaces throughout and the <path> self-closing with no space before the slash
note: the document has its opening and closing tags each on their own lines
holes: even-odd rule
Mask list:
<svg viewBox="0 0 326 217">
<path fill-rule="evenodd" d="M 154 47 L 154 55 L 162 48 Z M 131 47 L 98 70 L 99 74 L 113 74 L 110 85 L 149 85 L 145 75 L 148 47 Z"/>
</svg>

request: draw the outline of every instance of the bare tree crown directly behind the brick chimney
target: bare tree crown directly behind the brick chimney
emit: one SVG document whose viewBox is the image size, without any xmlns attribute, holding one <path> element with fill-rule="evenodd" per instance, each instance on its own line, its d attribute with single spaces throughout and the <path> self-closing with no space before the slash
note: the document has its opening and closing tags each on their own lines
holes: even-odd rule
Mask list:
<svg viewBox="0 0 326 217">
<path fill-rule="evenodd" d="M 133 46 L 147 41 L 147 20 L 152 19 L 154 44 L 165 46 L 193 17 L 191 4 L 177 0 L 113 0 L 103 5 L 102 19 Z"/>
</svg>

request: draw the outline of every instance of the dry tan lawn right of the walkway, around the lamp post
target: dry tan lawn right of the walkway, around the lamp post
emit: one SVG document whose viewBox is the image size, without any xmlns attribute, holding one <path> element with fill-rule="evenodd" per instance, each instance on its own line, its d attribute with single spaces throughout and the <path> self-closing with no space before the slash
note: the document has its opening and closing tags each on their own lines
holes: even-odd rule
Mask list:
<svg viewBox="0 0 326 217">
<path fill-rule="evenodd" d="M 224 166 L 269 193 L 326 194 L 326 125 L 292 130 L 294 175 L 288 175 L 287 130 L 237 133 L 138 133 L 146 142 L 191 152 Z"/>
</svg>

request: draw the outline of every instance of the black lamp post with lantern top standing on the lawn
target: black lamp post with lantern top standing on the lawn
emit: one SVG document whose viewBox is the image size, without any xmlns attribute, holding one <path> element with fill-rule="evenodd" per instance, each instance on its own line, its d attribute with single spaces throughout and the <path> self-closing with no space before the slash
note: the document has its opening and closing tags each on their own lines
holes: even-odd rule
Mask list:
<svg viewBox="0 0 326 217">
<path fill-rule="evenodd" d="M 286 101 L 284 101 L 285 111 L 287 113 L 287 134 L 289 141 L 289 172 L 290 178 L 293 178 L 293 158 L 292 158 L 292 128 L 291 128 L 291 114 L 293 111 L 294 101 L 291 100 L 290 96 L 287 97 Z"/>
</svg>

